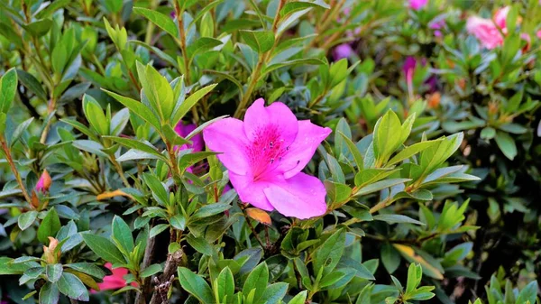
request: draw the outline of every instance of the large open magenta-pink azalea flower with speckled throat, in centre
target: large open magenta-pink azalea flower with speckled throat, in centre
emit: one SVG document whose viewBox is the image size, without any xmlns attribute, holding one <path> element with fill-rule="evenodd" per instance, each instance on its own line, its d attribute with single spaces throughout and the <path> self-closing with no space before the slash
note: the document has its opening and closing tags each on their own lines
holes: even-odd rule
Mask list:
<svg viewBox="0 0 541 304">
<path fill-rule="evenodd" d="M 229 170 L 244 203 L 300 219 L 326 213 L 321 180 L 301 170 L 331 129 L 298 121 L 289 107 L 257 99 L 244 121 L 225 118 L 203 131 L 206 146 Z"/>
</svg>

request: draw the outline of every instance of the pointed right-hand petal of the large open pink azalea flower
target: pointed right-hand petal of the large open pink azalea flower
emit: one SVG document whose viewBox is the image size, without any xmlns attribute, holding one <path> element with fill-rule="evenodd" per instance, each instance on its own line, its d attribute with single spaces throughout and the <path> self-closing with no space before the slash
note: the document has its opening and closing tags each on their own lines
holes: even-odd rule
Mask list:
<svg viewBox="0 0 541 304">
<path fill-rule="evenodd" d="M 330 128 L 312 124 L 309 120 L 299 121 L 297 138 L 289 146 L 277 169 L 283 172 L 286 179 L 297 175 L 312 159 L 317 146 L 332 132 Z"/>
</svg>

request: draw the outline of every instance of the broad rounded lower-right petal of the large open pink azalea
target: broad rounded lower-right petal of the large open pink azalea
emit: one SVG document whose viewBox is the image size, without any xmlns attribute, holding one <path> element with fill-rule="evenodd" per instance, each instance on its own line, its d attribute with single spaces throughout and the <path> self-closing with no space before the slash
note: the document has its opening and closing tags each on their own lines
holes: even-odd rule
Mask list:
<svg viewBox="0 0 541 304">
<path fill-rule="evenodd" d="M 305 219 L 326 213 L 326 190 L 323 183 L 305 173 L 273 183 L 263 191 L 271 205 L 284 216 Z"/>
</svg>

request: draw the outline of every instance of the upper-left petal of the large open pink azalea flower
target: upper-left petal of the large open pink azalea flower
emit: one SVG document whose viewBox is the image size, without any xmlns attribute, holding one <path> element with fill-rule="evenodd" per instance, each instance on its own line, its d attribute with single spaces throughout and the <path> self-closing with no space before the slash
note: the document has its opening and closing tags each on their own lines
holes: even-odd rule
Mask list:
<svg viewBox="0 0 541 304">
<path fill-rule="evenodd" d="M 219 120 L 203 130 L 203 138 L 210 150 L 221 152 L 217 157 L 225 168 L 239 175 L 251 171 L 245 152 L 248 140 L 242 121 L 235 118 Z"/>
</svg>

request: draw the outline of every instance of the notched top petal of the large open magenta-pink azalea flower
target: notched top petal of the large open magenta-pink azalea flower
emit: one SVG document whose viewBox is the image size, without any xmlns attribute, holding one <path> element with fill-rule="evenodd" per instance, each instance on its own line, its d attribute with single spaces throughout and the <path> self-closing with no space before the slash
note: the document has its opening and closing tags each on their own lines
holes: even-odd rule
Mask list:
<svg viewBox="0 0 541 304">
<path fill-rule="evenodd" d="M 244 132 L 251 142 L 258 141 L 268 130 L 276 128 L 280 140 L 289 145 L 295 140 L 298 131 L 297 117 L 288 106 L 275 102 L 265 107 L 262 98 L 253 102 L 244 115 Z"/>
</svg>

